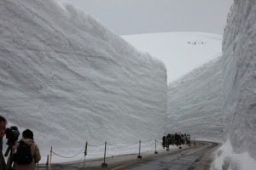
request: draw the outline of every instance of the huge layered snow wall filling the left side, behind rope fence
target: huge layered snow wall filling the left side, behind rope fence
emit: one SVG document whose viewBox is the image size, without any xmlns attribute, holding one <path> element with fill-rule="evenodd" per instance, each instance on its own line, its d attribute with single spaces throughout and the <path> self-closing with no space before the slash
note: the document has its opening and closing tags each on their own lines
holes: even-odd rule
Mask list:
<svg viewBox="0 0 256 170">
<path fill-rule="evenodd" d="M 4 0 L 0 16 L 0 114 L 9 126 L 32 129 L 41 150 L 160 137 L 160 60 L 61 1 Z"/>
</svg>

